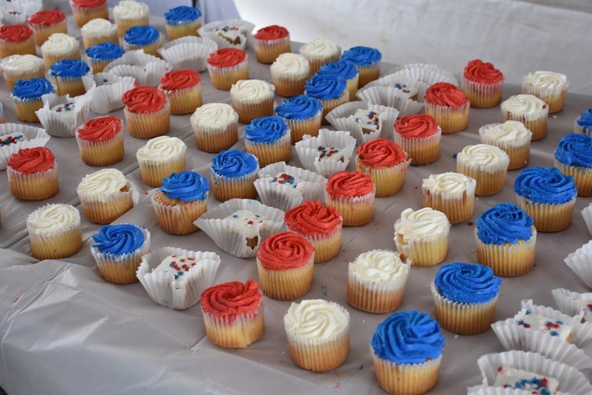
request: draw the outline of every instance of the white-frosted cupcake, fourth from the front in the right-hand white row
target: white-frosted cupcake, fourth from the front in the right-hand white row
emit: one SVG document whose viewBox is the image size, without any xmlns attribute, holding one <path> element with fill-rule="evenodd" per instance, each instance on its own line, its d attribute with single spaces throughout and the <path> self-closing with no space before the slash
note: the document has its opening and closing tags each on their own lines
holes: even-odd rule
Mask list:
<svg viewBox="0 0 592 395">
<path fill-rule="evenodd" d="M 475 185 L 475 179 L 464 174 L 432 174 L 423 179 L 423 207 L 442 211 L 453 224 L 464 222 L 473 214 Z"/>
</svg>

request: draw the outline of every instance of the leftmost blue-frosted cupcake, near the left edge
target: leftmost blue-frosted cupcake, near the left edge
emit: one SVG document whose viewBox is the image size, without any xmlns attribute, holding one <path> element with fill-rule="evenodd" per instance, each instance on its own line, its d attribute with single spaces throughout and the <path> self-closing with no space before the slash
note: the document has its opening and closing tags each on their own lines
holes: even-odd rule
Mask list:
<svg viewBox="0 0 592 395">
<path fill-rule="evenodd" d="M 35 111 L 43 107 L 41 96 L 54 92 L 54 87 L 45 78 L 19 79 L 10 92 L 17 117 L 25 122 L 38 122 Z"/>
</svg>

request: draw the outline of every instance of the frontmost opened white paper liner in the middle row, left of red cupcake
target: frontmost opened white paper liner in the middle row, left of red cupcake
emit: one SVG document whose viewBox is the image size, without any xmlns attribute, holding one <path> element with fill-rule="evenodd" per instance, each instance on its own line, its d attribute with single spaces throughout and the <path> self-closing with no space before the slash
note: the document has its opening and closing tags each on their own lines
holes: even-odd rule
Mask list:
<svg viewBox="0 0 592 395">
<path fill-rule="evenodd" d="M 183 274 L 183 281 L 179 281 L 178 287 L 170 274 L 153 272 L 169 255 L 188 256 L 197 264 Z M 220 256 L 214 252 L 163 247 L 142 257 L 136 276 L 155 303 L 169 309 L 185 310 L 200 302 L 201 293 L 213 284 L 218 266 Z"/>
</svg>

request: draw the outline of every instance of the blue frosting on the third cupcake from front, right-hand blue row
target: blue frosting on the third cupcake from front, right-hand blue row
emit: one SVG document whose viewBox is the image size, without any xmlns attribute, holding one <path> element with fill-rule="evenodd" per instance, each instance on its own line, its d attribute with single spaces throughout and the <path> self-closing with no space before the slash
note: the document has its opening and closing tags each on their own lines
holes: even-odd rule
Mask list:
<svg viewBox="0 0 592 395">
<path fill-rule="evenodd" d="M 496 204 L 481 214 L 475 223 L 477 236 L 485 244 L 515 244 L 532 236 L 533 219 L 517 204 Z"/>
</svg>

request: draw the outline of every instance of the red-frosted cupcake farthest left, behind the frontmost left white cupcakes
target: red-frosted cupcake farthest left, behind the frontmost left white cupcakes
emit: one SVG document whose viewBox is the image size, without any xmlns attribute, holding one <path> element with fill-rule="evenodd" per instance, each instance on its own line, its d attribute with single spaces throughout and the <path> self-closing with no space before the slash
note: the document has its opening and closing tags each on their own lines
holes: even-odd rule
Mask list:
<svg viewBox="0 0 592 395">
<path fill-rule="evenodd" d="M 45 147 L 24 148 L 13 153 L 6 165 L 12 196 L 22 200 L 44 200 L 59 192 L 57 163 Z"/>
</svg>

